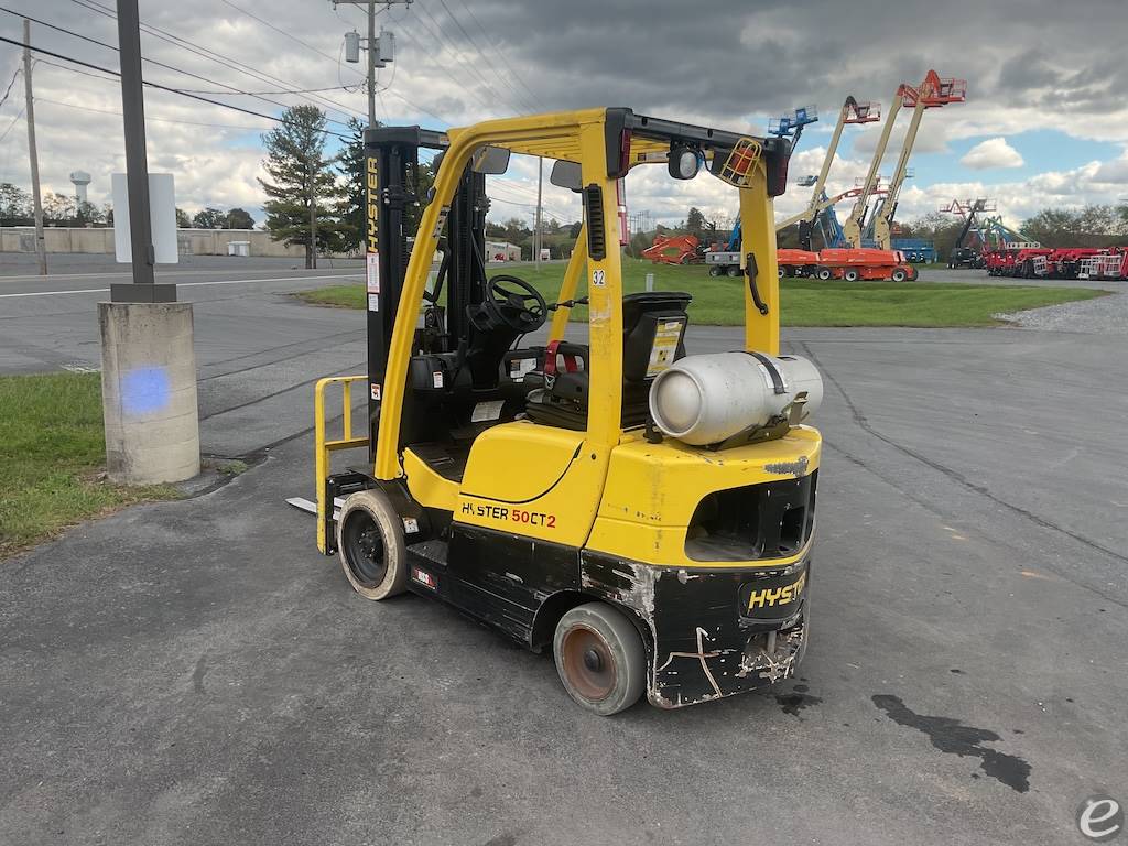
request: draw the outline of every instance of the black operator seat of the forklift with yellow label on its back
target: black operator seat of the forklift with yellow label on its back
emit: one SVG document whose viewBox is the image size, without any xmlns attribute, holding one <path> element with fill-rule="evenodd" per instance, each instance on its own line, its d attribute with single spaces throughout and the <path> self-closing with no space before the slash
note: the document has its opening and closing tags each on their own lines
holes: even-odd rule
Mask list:
<svg viewBox="0 0 1128 846">
<path fill-rule="evenodd" d="M 649 413 L 654 377 L 686 354 L 686 309 L 693 297 L 681 291 L 644 291 L 623 298 L 623 416 L 624 429 L 641 426 Z M 580 359 L 565 372 L 555 372 L 556 354 Z M 583 431 L 588 428 L 590 374 L 587 344 L 562 343 L 549 354 L 543 371 L 544 388 L 529 394 L 525 412 L 535 423 Z"/>
</svg>

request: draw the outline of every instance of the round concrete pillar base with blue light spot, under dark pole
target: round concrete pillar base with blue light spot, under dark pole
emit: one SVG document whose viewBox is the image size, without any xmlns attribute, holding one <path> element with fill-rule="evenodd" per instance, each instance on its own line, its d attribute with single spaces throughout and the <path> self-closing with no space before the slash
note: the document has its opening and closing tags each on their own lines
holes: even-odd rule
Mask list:
<svg viewBox="0 0 1128 846">
<path fill-rule="evenodd" d="M 109 478 L 133 485 L 200 473 L 190 302 L 99 302 Z"/>
</svg>

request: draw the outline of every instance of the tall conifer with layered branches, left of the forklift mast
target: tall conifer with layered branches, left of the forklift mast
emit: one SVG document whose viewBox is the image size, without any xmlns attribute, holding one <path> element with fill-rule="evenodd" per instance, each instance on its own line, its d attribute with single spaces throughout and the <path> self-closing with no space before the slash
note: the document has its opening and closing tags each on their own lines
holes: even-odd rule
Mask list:
<svg viewBox="0 0 1128 846">
<path fill-rule="evenodd" d="M 325 156 L 325 113 L 316 106 L 291 106 L 283 123 L 263 135 L 267 157 L 266 179 L 259 179 L 270 197 L 263 204 L 266 229 L 274 240 L 306 247 L 306 266 L 317 266 L 316 250 L 342 249 L 350 226 L 342 220 L 346 190 L 337 184 Z M 316 241 L 311 237 L 314 219 Z"/>
</svg>

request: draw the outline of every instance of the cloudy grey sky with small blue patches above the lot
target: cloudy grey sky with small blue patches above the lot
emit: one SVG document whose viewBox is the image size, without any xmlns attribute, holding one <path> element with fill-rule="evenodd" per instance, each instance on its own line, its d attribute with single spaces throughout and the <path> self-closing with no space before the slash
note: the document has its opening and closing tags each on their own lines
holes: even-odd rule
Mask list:
<svg viewBox="0 0 1128 846">
<path fill-rule="evenodd" d="M 113 0 L 0 6 L 111 46 L 39 24 L 32 26 L 33 44 L 117 68 Z M 332 129 L 345 132 L 343 122 L 367 108 L 360 67 L 340 61 L 343 34 L 364 29 L 360 8 L 335 9 L 329 0 L 140 0 L 141 20 L 151 27 L 142 52 L 169 65 L 147 64 L 146 78 L 271 115 L 314 102 L 337 122 Z M 378 21 L 397 37 L 396 61 L 379 78 L 384 122 L 444 129 L 623 105 L 763 134 L 769 117 L 814 104 L 822 120 L 803 135 L 794 180 L 818 170 L 847 95 L 888 108 L 898 83 L 916 85 L 934 68 L 967 79 L 968 98 L 925 115 L 899 219 L 954 197 L 987 196 L 1017 223 L 1046 206 L 1128 196 L 1123 0 L 415 0 L 381 8 Z M 0 35 L 20 41 L 21 26 L 19 15 L 0 11 Z M 19 50 L 0 43 L 0 96 L 19 64 Z M 68 175 L 82 169 L 94 177 L 90 200 L 107 201 L 109 175 L 124 166 L 116 80 L 49 56 L 33 76 L 45 190 L 71 193 Z M 23 108 L 19 79 L 0 105 L 0 182 L 26 187 Z M 255 177 L 268 121 L 153 89 L 146 108 L 150 169 L 175 175 L 178 205 L 240 205 L 262 220 Z M 832 191 L 864 175 L 879 129 L 847 127 Z M 884 173 L 897 152 L 895 143 Z M 694 203 L 719 224 L 731 219 L 726 186 L 707 176 L 673 183 L 659 170 L 628 178 L 632 212 L 672 222 Z M 805 200 L 792 185 L 777 213 Z M 535 202 L 536 164 L 514 158 L 499 180 L 492 217 L 528 218 Z M 545 202 L 557 219 L 579 217 L 567 192 L 548 188 Z"/>
</svg>

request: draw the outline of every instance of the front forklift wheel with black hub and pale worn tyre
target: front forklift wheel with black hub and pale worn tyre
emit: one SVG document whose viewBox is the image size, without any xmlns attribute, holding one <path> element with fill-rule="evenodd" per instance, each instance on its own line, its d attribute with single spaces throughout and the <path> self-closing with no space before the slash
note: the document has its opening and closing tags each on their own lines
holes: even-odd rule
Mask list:
<svg viewBox="0 0 1128 846">
<path fill-rule="evenodd" d="M 387 599 L 407 589 L 404 525 L 382 491 L 358 491 L 337 518 L 337 549 L 345 578 L 365 599 Z"/>
</svg>

